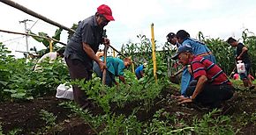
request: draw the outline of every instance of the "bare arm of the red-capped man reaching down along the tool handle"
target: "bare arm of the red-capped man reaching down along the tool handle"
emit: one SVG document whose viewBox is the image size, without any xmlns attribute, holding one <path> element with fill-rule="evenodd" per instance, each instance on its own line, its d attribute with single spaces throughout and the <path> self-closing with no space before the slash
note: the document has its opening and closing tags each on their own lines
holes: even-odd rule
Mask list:
<svg viewBox="0 0 256 135">
<path fill-rule="evenodd" d="M 83 42 L 83 49 L 91 59 L 95 60 L 96 63 L 98 63 L 99 67 L 102 70 L 106 68 L 106 65 L 104 65 L 104 63 L 95 55 L 94 50 L 91 48 L 91 46 Z"/>
</svg>

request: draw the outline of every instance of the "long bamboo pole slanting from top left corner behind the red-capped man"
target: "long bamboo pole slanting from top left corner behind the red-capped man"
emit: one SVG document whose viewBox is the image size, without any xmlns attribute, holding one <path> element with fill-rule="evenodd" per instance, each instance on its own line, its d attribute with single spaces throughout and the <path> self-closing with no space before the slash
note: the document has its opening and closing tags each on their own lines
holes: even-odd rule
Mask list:
<svg viewBox="0 0 256 135">
<path fill-rule="evenodd" d="M 55 21 L 53 21 L 53 20 L 51 20 L 51 19 L 49 19 L 49 18 L 46 18 L 46 17 L 44 17 L 44 16 L 41 16 L 41 14 L 36 13 L 36 12 L 34 12 L 34 11 L 31 11 L 31 10 L 27 9 L 25 6 L 23 6 L 23 5 L 21 5 L 21 4 L 12 2 L 11 0 L 0 0 L 0 2 L 2 2 L 2 3 L 4 3 L 4 4 L 8 4 L 8 5 L 10 5 L 11 7 L 15 8 L 15 9 L 18 9 L 19 11 L 23 11 L 23 12 L 25 12 L 25 13 L 27 13 L 27 14 L 33 16 L 34 18 L 40 18 L 41 20 L 43 20 L 43 21 L 45 21 L 45 22 L 47 22 L 47 23 L 49 23 L 49 24 L 51 24 L 51 25 L 56 25 L 57 27 L 63 28 L 64 30 L 69 31 L 69 32 L 75 32 L 75 31 L 72 30 L 71 28 L 68 28 L 68 27 L 66 27 L 66 26 L 64 26 L 64 25 L 60 25 L 60 24 L 56 23 Z M 111 48 L 114 49 L 117 53 L 119 53 L 119 54 L 121 54 L 123 57 L 125 57 L 124 54 L 122 54 L 122 53 L 120 53 L 119 51 L 117 51 L 117 49 L 115 49 L 113 46 L 110 46 L 110 45 L 109 45 L 109 47 L 111 47 Z"/>
</svg>

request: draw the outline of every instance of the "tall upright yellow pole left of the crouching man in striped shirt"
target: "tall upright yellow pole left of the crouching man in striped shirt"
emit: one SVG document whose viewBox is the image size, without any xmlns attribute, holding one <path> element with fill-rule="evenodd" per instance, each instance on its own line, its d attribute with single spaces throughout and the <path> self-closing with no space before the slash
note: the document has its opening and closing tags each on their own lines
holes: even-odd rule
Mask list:
<svg viewBox="0 0 256 135">
<path fill-rule="evenodd" d="M 157 83 L 155 44 L 154 44 L 154 24 L 153 23 L 151 25 L 151 42 L 152 42 L 152 59 L 153 59 L 153 68 L 154 68 L 154 80 L 155 80 L 155 83 Z"/>
</svg>

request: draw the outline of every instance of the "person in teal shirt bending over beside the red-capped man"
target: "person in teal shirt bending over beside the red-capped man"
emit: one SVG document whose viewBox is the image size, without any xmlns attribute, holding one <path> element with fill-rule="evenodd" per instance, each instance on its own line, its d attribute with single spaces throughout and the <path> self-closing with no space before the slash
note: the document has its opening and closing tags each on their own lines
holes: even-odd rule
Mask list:
<svg viewBox="0 0 256 135">
<path fill-rule="evenodd" d="M 104 57 L 102 57 L 102 61 L 103 59 Z M 124 60 L 121 60 L 119 58 L 107 57 L 106 85 L 112 87 L 113 82 L 118 84 L 115 80 L 115 76 L 118 76 L 119 80 L 125 83 L 124 68 L 128 68 L 131 65 L 132 60 L 130 58 L 124 58 Z M 96 62 L 94 62 L 93 70 L 98 77 L 102 78 L 102 70 Z"/>
</svg>

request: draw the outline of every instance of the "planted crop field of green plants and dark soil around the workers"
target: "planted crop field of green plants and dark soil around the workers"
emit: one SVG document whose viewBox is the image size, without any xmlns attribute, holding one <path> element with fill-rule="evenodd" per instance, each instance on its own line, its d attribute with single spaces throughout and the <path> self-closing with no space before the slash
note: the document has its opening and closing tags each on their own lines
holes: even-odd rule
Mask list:
<svg viewBox="0 0 256 135">
<path fill-rule="evenodd" d="M 249 48 L 252 75 L 256 71 L 256 37 L 243 33 Z M 0 135 L 1 134 L 255 134 L 256 91 L 243 82 L 232 81 L 236 95 L 220 110 L 207 110 L 195 104 L 179 105 L 172 95 L 179 85 L 169 81 L 175 61 L 168 58 L 175 50 L 166 44 L 157 50 L 157 79 L 154 82 L 151 43 L 139 35 L 139 43 L 128 43 L 121 52 L 132 56 L 134 67 L 147 61 L 146 76 L 136 79 L 132 68 L 124 74 L 127 84 L 102 85 L 100 78 L 86 84 L 71 82 L 62 60 L 41 63 L 15 59 L 0 43 Z M 215 53 L 220 67 L 230 75 L 235 67 L 233 48 L 223 39 L 200 39 Z M 156 42 L 157 45 L 157 42 Z M 70 100 L 57 99 L 56 87 L 67 82 L 83 88 L 94 106 L 81 110 Z"/>
</svg>

